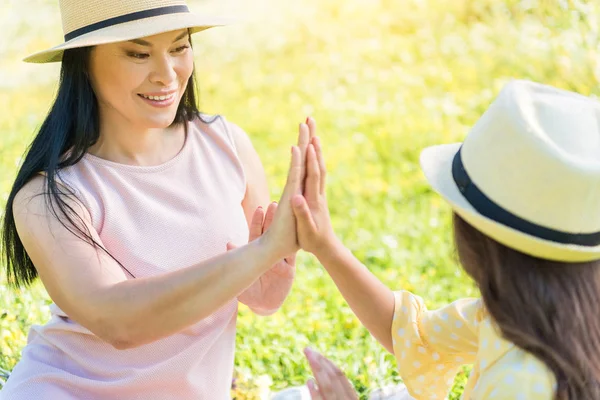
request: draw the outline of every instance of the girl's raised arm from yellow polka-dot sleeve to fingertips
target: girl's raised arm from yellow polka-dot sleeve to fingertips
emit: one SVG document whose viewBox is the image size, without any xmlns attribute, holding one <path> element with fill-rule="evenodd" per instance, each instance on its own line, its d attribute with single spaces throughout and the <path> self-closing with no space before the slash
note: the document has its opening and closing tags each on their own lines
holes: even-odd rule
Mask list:
<svg viewBox="0 0 600 400">
<path fill-rule="evenodd" d="M 309 145 L 306 168 L 304 195 L 292 199 L 300 246 L 317 256 L 361 322 L 394 353 L 411 393 L 443 398 L 460 366 L 475 361 L 481 302 L 462 299 L 428 311 L 421 298 L 385 287 L 333 232 L 318 138 Z M 423 387 L 423 382 L 435 384 Z"/>
</svg>

